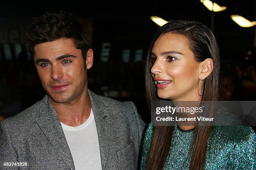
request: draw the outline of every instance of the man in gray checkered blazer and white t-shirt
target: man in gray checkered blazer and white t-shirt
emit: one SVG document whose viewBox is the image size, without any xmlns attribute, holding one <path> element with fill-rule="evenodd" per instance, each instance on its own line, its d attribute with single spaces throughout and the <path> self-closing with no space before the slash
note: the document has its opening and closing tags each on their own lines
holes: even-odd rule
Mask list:
<svg viewBox="0 0 256 170">
<path fill-rule="evenodd" d="M 47 95 L 0 122 L 0 169 L 137 169 L 145 123 L 132 102 L 87 89 L 93 51 L 79 21 L 45 13 L 26 37 Z"/>
</svg>

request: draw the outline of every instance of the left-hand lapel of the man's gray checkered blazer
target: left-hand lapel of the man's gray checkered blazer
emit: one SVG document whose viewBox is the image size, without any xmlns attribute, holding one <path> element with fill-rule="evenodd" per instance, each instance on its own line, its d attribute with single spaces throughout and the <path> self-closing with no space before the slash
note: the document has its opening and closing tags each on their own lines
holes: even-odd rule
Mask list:
<svg viewBox="0 0 256 170">
<path fill-rule="evenodd" d="M 40 116 L 36 118 L 36 121 L 65 163 L 71 170 L 75 170 L 74 161 L 56 110 L 47 96 L 43 100 L 44 105 L 41 106 L 42 108 L 38 108 Z M 47 108 L 47 110 L 44 108 Z"/>
</svg>

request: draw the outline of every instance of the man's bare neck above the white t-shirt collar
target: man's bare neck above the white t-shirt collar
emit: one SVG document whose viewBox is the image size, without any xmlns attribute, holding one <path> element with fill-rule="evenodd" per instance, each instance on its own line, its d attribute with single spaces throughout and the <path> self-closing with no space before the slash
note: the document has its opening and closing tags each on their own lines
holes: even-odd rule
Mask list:
<svg viewBox="0 0 256 170">
<path fill-rule="evenodd" d="M 87 91 L 72 103 L 57 103 L 52 99 L 50 101 L 57 112 L 59 120 L 65 125 L 79 126 L 90 116 L 92 106 Z"/>
</svg>

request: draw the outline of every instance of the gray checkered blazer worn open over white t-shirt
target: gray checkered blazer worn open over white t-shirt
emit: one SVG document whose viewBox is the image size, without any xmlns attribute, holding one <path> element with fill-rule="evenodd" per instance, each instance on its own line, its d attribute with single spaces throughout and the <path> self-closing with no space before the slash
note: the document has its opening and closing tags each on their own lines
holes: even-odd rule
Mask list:
<svg viewBox="0 0 256 170">
<path fill-rule="evenodd" d="M 135 105 L 88 92 L 102 170 L 137 169 L 145 123 Z M 0 170 L 18 169 L 4 167 L 4 162 L 27 162 L 28 167 L 20 167 L 22 170 L 75 169 L 59 118 L 47 95 L 18 115 L 0 122 Z"/>
</svg>

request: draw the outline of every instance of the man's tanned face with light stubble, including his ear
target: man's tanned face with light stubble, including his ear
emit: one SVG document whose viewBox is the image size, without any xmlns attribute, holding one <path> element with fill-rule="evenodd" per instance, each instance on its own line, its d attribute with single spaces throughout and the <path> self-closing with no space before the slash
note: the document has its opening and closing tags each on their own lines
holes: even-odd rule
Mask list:
<svg viewBox="0 0 256 170">
<path fill-rule="evenodd" d="M 87 69 L 92 67 L 93 52 L 87 52 L 86 63 L 82 51 L 72 39 L 44 42 L 34 47 L 34 61 L 47 94 L 58 103 L 72 104 L 87 91 Z"/>
</svg>

